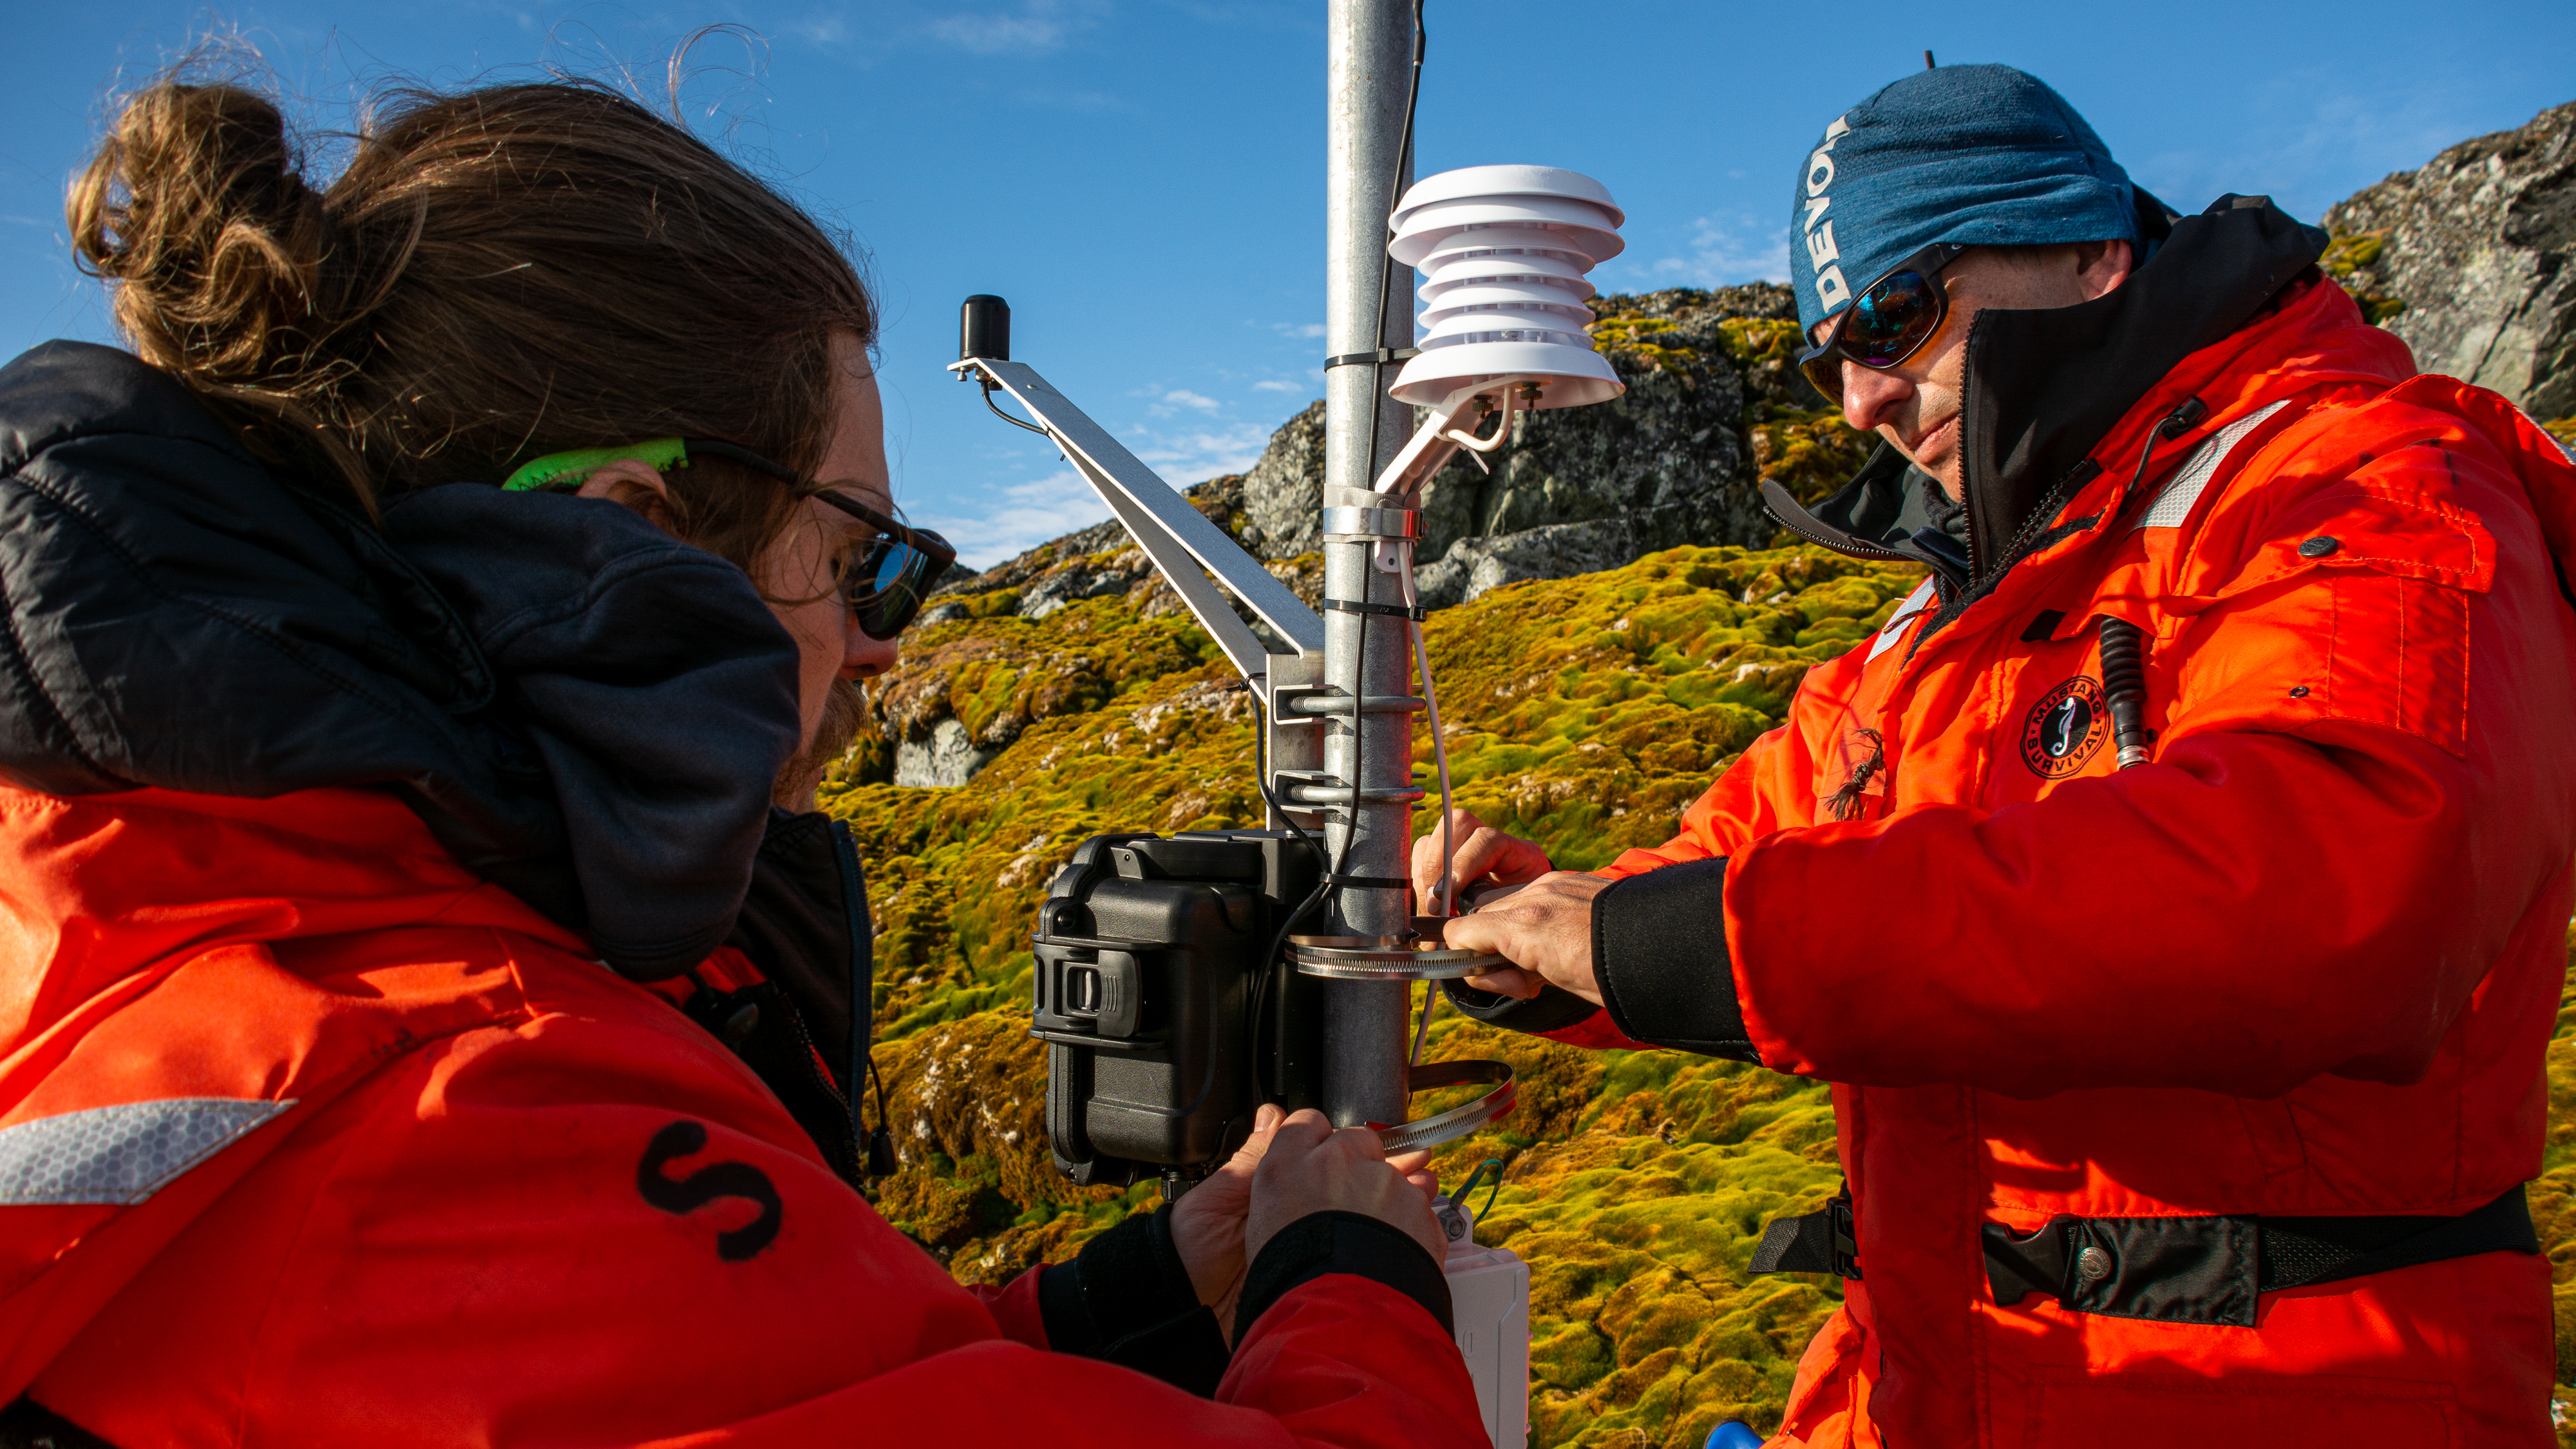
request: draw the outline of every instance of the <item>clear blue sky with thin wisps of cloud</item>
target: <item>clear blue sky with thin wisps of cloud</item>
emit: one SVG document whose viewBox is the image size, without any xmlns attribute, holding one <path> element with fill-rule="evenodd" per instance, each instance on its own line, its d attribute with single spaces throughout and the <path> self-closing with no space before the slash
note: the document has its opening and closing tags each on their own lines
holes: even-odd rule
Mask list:
<svg viewBox="0 0 2576 1449">
<path fill-rule="evenodd" d="M 1321 394 L 1321 0 L 5 0 L 0 356 L 111 340 L 62 186 L 118 85 L 224 31 L 322 124 L 397 80 L 634 75 L 819 214 L 881 284 L 896 498 L 992 562 L 1105 511 L 940 366 L 997 291 L 1015 356 L 1175 485 L 1247 467 Z M 1546 162 L 1628 209 L 1605 289 L 1783 276 L 1785 191 L 1839 108 L 1922 64 L 2020 64 L 2151 191 L 2313 219 L 2576 98 L 2576 5 L 1721 5 L 1430 0 L 1419 170 Z"/>
</svg>

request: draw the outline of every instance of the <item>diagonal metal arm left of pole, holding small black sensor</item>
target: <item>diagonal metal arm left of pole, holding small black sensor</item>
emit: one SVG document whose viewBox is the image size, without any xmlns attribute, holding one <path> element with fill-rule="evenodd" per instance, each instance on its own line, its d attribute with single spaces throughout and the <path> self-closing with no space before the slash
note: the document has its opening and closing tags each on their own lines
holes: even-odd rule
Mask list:
<svg viewBox="0 0 2576 1449">
<path fill-rule="evenodd" d="M 999 387 L 1038 420 L 1262 699 L 1270 699 L 1270 652 L 1226 603 L 1226 593 L 1242 598 L 1298 655 L 1324 652 L 1324 619 L 1306 608 L 1306 601 L 1288 593 L 1288 585 L 1273 578 L 1260 559 L 1247 554 L 1206 513 L 1190 508 L 1188 498 L 1144 467 L 1069 397 L 1048 387 L 1036 369 L 1002 358 L 966 358 L 951 364 L 951 371 Z"/>
</svg>

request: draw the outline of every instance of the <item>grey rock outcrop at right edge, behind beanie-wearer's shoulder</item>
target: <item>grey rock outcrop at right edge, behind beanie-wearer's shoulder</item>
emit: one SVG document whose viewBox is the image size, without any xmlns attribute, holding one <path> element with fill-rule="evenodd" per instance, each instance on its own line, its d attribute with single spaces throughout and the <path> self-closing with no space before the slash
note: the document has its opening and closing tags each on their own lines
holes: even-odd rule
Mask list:
<svg viewBox="0 0 2576 1449">
<path fill-rule="evenodd" d="M 2336 273 L 2416 366 L 2576 415 L 2576 103 L 2326 211 Z"/>
</svg>

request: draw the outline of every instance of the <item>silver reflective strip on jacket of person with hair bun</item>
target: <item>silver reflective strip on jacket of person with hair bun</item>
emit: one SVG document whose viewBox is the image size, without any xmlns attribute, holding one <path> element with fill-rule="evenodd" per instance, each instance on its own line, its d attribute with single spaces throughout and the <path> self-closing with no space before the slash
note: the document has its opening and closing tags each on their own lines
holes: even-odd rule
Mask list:
<svg viewBox="0 0 2576 1449">
<path fill-rule="evenodd" d="M 289 1106 L 173 1096 L 0 1127 L 0 1204 L 137 1204 Z"/>
</svg>

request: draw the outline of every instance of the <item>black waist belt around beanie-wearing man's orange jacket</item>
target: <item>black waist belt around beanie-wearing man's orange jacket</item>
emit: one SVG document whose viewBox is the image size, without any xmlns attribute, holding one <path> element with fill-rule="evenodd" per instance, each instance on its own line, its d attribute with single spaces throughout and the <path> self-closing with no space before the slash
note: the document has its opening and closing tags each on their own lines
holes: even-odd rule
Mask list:
<svg viewBox="0 0 2576 1449">
<path fill-rule="evenodd" d="M 2470 1258 L 2540 1253 L 2532 1207 L 2514 1186 L 2460 1217 L 2074 1217 L 2030 1238 L 1986 1225 L 1994 1302 L 2053 1294 L 2071 1312 L 2156 1323 L 2254 1325 L 2257 1294 Z M 1860 1276 L 1852 1199 L 1783 1217 L 1762 1232 L 1754 1274 Z"/>
</svg>

